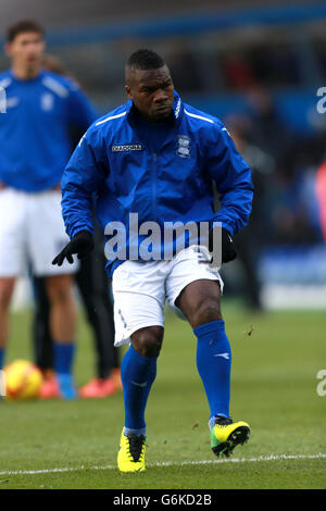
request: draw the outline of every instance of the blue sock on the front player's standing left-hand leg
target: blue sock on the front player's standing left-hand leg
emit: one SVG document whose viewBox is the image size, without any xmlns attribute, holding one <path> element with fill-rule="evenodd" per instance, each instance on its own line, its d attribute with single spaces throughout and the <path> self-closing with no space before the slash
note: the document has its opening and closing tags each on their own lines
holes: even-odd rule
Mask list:
<svg viewBox="0 0 326 511">
<path fill-rule="evenodd" d="M 125 434 L 146 435 L 145 409 L 156 377 L 158 357 L 143 357 L 130 345 L 121 365 L 124 389 Z"/>
</svg>

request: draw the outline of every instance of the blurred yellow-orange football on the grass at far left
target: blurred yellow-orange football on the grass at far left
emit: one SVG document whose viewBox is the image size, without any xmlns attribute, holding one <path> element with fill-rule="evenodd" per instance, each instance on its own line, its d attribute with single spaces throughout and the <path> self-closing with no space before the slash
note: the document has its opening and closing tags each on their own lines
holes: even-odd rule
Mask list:
<svg viewBox="0 0 326 511">
<path fill-rule="evenodd" d="M 36 399 L 42 384 L 42 373 L 28 360 L 15 360 L 4 369 L 5 399 Z"/>
</svg>

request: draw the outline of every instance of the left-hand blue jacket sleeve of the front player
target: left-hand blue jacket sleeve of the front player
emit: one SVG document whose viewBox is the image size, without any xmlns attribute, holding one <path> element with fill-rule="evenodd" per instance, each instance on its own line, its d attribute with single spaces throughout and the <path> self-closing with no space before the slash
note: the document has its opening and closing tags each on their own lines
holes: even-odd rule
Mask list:
<svg viewBox="0 0 326 511">
<path fill-rule="evenodd" d="M 108 175 L 104 145 L 91 126 L 82 137 L 62 176 L 62 216 L 72 239 L 79 230 L 93 233 L 93 198 Z"/>
</svg>

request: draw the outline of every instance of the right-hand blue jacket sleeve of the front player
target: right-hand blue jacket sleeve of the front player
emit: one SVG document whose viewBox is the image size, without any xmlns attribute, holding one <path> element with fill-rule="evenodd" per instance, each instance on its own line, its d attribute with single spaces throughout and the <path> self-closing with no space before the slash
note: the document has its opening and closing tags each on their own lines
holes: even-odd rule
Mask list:
<svg viewBox="0 0 326 511">
<path fill-rule="evenodd" d="M 223 123 L 214 124 L 212 128 L 208 165 L 221 201 L 221 209 L 216 212 L 214 222 L 221 222 L 222 226 L 234 235 L 247 225 L 251 213 L 251 171 Z"/>
</svg>

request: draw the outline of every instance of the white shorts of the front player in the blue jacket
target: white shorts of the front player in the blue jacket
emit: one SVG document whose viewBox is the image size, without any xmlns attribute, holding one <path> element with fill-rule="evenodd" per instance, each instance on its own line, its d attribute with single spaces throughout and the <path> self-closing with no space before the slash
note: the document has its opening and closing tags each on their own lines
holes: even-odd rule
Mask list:
<svg viewBox="0 0 326 511">
<path fill-rule="evenodd" d="M 223 281 L 217 267 L 209 264 L 205 247 L 190 247 L 170 261 L 125 261 L 113 273 L 114 346 L 130 342 L 130 336 L 146 326 L 164 326 L 164 306 L 186 320 L 175 300 L 188 284 L 209 279 Z"/>
</svg>

